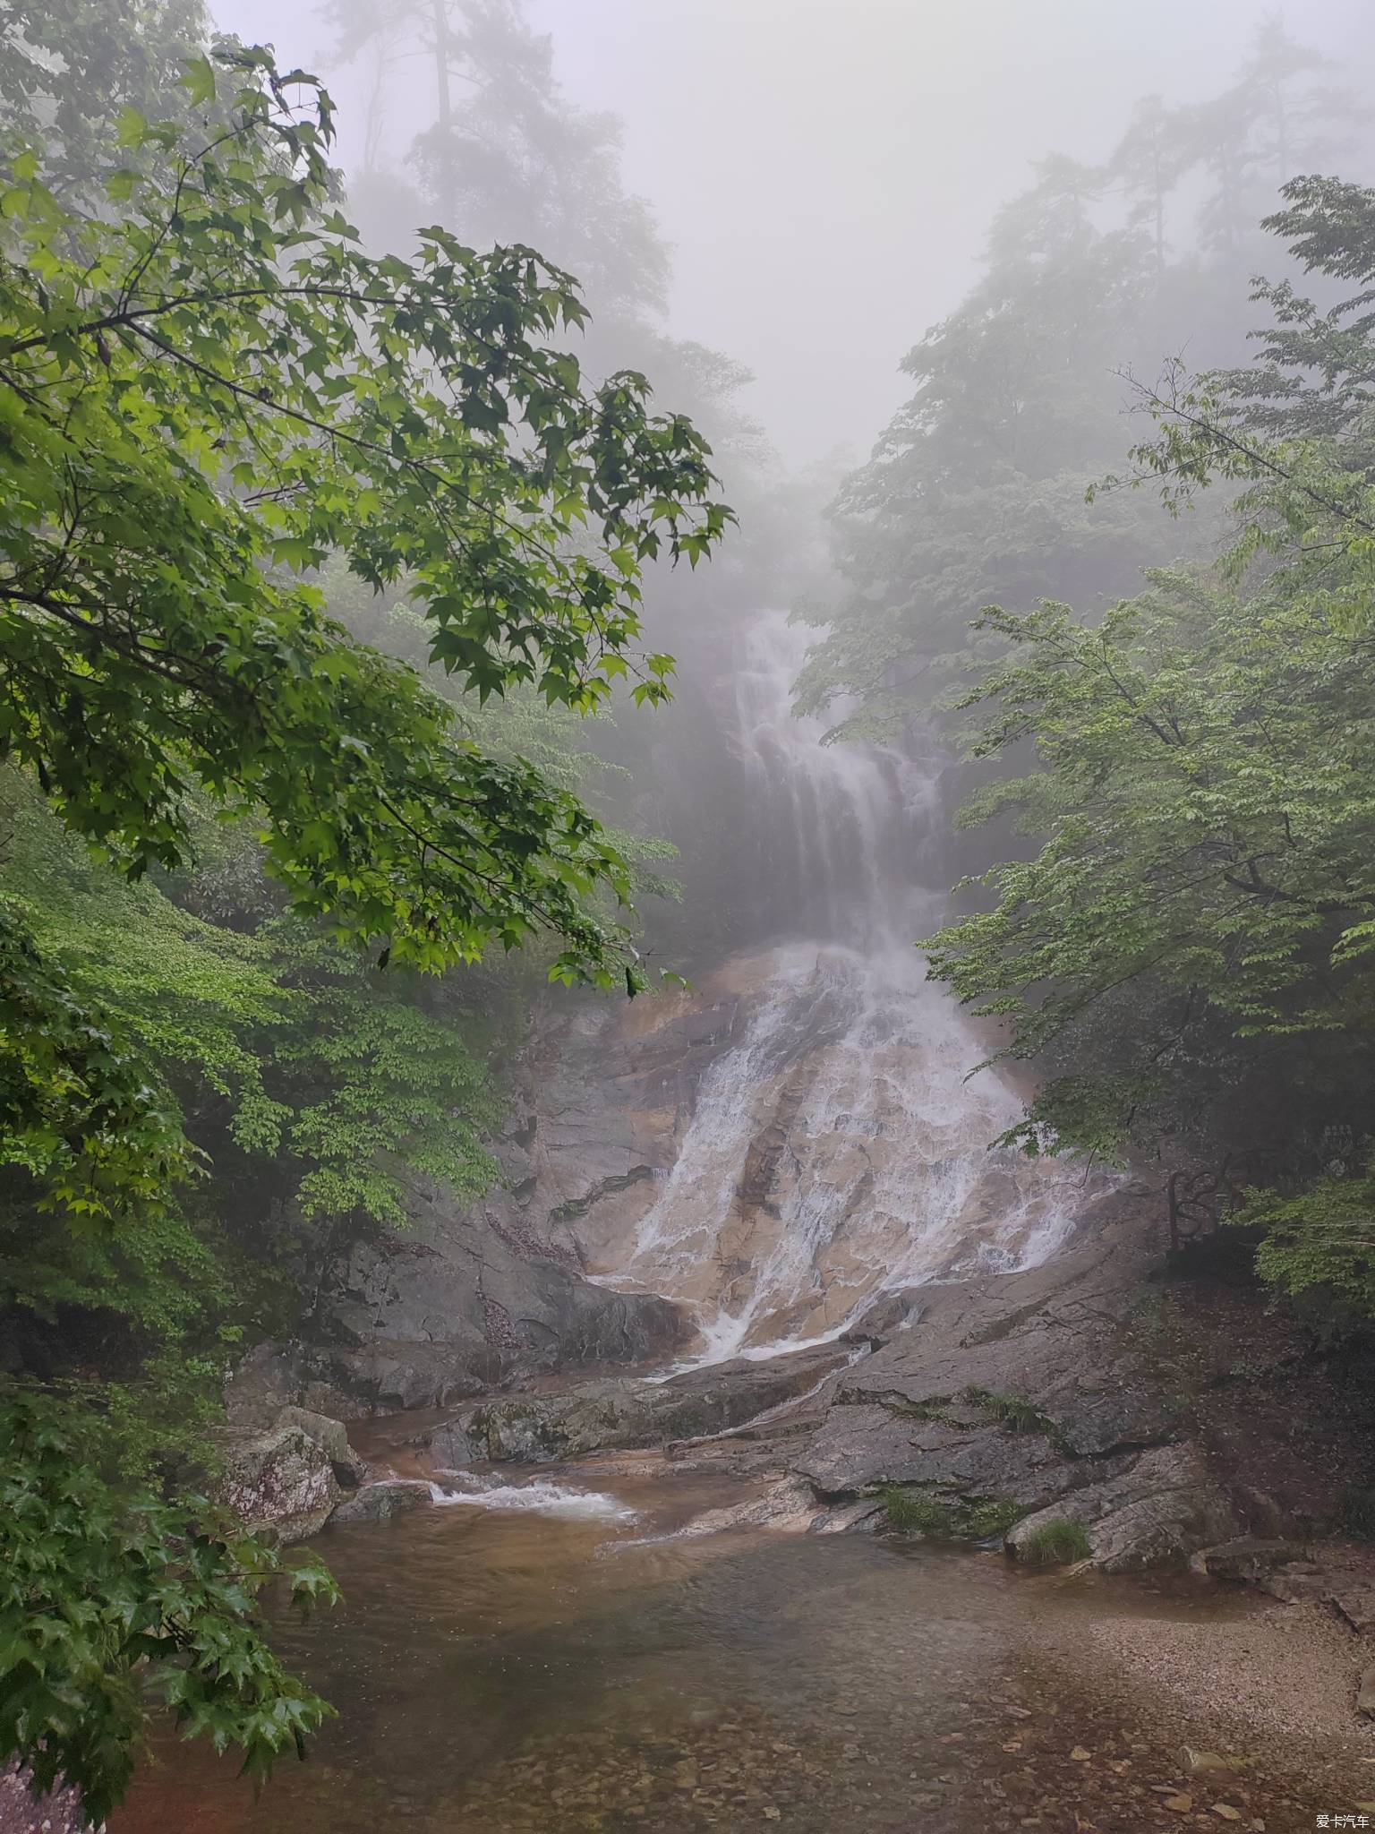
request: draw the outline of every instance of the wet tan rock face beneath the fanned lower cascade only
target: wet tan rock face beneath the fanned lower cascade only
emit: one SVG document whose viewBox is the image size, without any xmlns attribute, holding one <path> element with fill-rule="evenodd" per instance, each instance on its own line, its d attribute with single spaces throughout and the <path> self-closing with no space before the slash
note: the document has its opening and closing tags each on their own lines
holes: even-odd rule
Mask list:
<svg viewBox="0 0 1375 1834">
<path fill-rule="evenodd" d="M 583 1168 L 557 1220 L 590 1271 L 691 1306 L 717 1353 L 836 1331 L 900 1282 L 1040 1258 L 1084 1207 L 1062 1166 L 988 1152 L 1019 1100 L 966 1082 L 983 1040 L 906 945 L 786 943 L 594 1023 L 572 1111 L 614 1088 L 629 1157 L 600 1185 Z M 578 1056 L 566 1040 L 556 1084 Z M 568 1143 L 532 1203 L 566 1181 Z"/>
</svg>

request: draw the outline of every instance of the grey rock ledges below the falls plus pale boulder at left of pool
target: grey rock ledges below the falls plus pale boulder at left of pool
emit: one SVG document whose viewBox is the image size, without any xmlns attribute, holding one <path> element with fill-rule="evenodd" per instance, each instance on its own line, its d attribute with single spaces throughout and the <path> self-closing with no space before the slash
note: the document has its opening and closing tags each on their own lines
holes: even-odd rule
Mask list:
<svg viewBox="0 0 1375 1834">
<path fill-rule="evenodd" d="M 431 1471 L 658 1447 L 739 1471 L 752 1519 L 766 1513 L 763 1486 L 790 1522 L 843 1509 L 854 1528 L 1001 1541 L 1023 1559 L 1071 1524 L 1065 1544 L 1104 1572 L 1181 1568 L 1238 1537 L 1324 1535 L 1336 1440 L 1311 1431 L 1305 1447 L 1296 1431 L 1313 1423 L 1294 1407 L 1316 1405 L 1302 1346 L 1250 1295 L 1216 1289 L 1199 1309 L 1199 1289 L 1162 1273 L 1146 1196 L 1124 1188 L 1040 1267 L 887 1293 L 830 1342 L 676 1374 L 506 1377 L 398 1416 L 387 1443 Z M 286 1361 L 249 1377 L 270 1425 L 240 1431 L 229 1497 L 257 1524 L 319 1528 L 365 1476 L 343 1427 L 321 1420 L 330 1390 Z M 1362 1442 L 1342 1443 L 1358 1469 Z"/>
</svg>

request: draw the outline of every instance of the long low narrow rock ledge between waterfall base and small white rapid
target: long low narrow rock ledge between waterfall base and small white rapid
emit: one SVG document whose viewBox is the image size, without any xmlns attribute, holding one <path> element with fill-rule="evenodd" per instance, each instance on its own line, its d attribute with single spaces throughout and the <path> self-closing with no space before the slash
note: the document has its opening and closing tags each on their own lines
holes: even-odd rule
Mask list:
<svg viewBox="0 0 1375 1834">
<path fill-rule="evenodd" d="M 440 1467 L 475 1460 L 585 1458 L 724 1432 L 807 1394 L 845 1366 L 845 1348 L 801 1350 L 768 1363 L 720 1363 L 664 1383 L 605 1377 L 557 1394 L 478 1401 L 431 1436 Z"/>
</svg>

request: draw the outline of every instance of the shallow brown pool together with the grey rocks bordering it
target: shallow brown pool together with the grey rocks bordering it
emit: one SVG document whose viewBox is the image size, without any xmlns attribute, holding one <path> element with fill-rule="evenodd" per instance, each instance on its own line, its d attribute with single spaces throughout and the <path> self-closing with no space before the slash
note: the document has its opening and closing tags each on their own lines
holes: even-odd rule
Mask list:
<svg viewBox="0 0 1375 1834">
<path fill-rule="evenodd" d="M 1375 1572 L 1322 1535 L 1358 1442 L 1258 1317 L 1162 1280 L 1118 1190 L 1038 1269 L 781 1357 L 346 1427 L 258 1357 L 227 1486 L 319 1533 L 345 1603 L 275 1636 L 339 1720 L 257 1801 L 160 1735 L 110 1834 L 1375 1821 Z"/>
</svg>

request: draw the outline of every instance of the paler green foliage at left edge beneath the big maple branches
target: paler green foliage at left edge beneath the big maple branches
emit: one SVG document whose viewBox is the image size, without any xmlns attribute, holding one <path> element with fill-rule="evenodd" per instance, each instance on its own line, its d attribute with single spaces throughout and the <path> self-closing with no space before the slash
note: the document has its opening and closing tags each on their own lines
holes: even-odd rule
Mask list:
<svg viewBox="0 0 1375 1834">
<path fill-rule="evenodd" d="M 403 1227 L 416 1179 L 460 1199 L 490 1187 L 497 1168 L 482 1137 L 500 1104 L 462 1011 L 425 1011 L 414 976 L 370 970 L 270 900 L 253 923 L 264 886 L 233 849 L 211 869 L 216 924 L 152 880 L 128 884 L 92 860 L 13 774 L 0 779 L 0 807 L 9 829 L 0 888 L 16 888 L 11 908 L 44 956 L 66 965 L 81 1011 L 104 1016 L 148 1111 L 182 1143 L 176 1176 L 156 1159 L 139 1190 L 117 1163 L 117 1229 L 73 1229 L 81 1209 L 66 1198 L 48 1196 L 51 1214 L 35 1216 L 29 1188 L 11 1183 L 0 1203 L 0 1304 L 50 1324 L 72 1311 L 114 1315 L 143 1342 L 174 1342 L 240 1311 L 235 1286 L 251 1293 L 258 1280 L 242 1251 L 310 1260 L 312 1227 L 350 1218 Z M 227 833 L 242 851 L 242 831 Z M 200 880 L 180 889 L 205 893 Z M 226 928 L 244 921 L 244 900 L 253 928 Z M 48 1166 L 46 1139 L 13 1117 L 9 1163 L 40 1190 L 57 1179 L 60 1194 L 73 1148 L 64 1139 Z M 103 1135 L 81 1139 L 90 1157 Z M 121 1154 L 139 1143 L 121 1126 Z M 196 1154 L 213 1159 L 214 1179 L 178 1201 L 174 1185 L 185 1185 Z M 297 1232 L 279 1225 L 271 1243 L 242 1223 L 227 1231 L 238 1203 L 295 1216 Z"/>
</svg>

